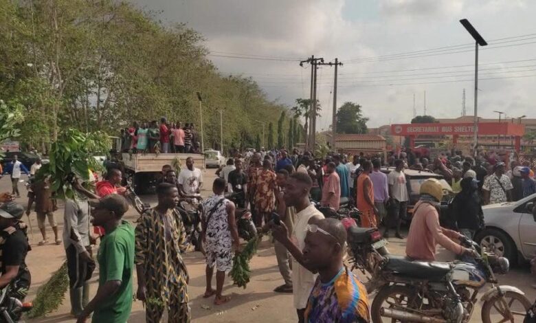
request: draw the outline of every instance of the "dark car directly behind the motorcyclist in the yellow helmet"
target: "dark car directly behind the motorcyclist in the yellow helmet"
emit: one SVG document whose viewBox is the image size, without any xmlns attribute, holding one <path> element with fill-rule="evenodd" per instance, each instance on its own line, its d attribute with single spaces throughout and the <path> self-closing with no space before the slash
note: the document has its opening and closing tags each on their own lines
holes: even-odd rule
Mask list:
<svg viewBox="0 0 536 323">
<path fill-rule="evenodd" d="M 381 168 L 381 171 L 389 174 L 394 170 L 394 167 L 384 167 Z M 452 188 L 450 187 L 449 183 L 445 181 L 445 178 L 443 175 L 436 174 L 434 172 L 425 172 L 423 170 L 412 170 L 412 169 L 405 169 L 404 170 L 405 179 L 407 182 L 407 193 L 410 195 L 410 201 L 407 202 L 407 219 L 405 221 L 410 222 L 413 214 L 413 209 L 415 207 L 415 204 L 417 203 L 418 199 L 421 198 L 421 184 L 429 178 L 435 178 L 437 179 L 441 185 L 443 186 L 443 201 L 441 201 L 441 214 L 440 219 L 447 219 L 448 218 L 448 205 L 449 201 L 454 197 L 452 193 Z"/>
</svg>

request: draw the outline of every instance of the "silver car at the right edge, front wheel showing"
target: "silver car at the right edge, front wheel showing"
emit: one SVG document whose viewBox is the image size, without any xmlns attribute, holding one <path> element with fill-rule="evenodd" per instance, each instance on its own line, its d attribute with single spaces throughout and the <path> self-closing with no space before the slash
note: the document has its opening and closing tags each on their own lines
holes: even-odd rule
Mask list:
<svg viewBox="0 0 536 323">
<path fill-rule="evenodd" d="M 535 203 L 533 194 L 517 202 L 484 205 L 485 227 L 476 232 L 475 241 L 511 263 L 532 259 L 536 254 Z"/>
</svg>

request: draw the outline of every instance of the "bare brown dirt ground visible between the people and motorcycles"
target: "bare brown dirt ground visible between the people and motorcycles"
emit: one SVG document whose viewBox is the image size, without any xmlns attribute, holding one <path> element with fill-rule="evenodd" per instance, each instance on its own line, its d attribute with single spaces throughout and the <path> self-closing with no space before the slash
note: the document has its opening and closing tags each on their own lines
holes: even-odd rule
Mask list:
<svg viewBox="0 0 536 323">
<path fill-rule="evenodd" d="M 206 170 L 203 173 L 205 179 L 205 190 L 203 196 L 210 194 L 206 188 L 211 187 L 214 179 L 214 170 Z M 25 177 L 23 177 L 25 179 Z M 10 191 L 10 179 L 3 177 L 0 179 L 0 192 Z M 23 197 L 17 199 L 19 203 L 24 205 L 27 203 L 25 197 L 25 188 L 23 183 L 19 184 Z M 155 205 L 156 199 L 154 195 L 144 195 L 142 199 Z M 63 227 L 63 204 L 58 205 L 60 210 L 56 211 L 56 221 L 61 228 Z M 134 221 L 136 216 L 135 210 L 129 210 L 126 219 Z M 23 218 L 27 221 L 26 216 Z M 38 232 L 35 213 L 30 215 L 30 224 L 32 226 L 33 235 L 30 234 L 30 243 L 32 251 L 27 256 L 27 265 L 32 273 L 32 287 L 27 300 L 34 298 L 39 286 L 45 283 L 56 269 L 65 261 L 65 252 L 63 245 L 49 244 L 38 246 L 38 241 L 41 240 L 41 234 Z M 47 223 L 47 234 L 49 241 L 53 241 L 52 230 Z M 212 299 L 203 299 L 203 291 L 205 289 L 205 263 L 204 258 L 199 252 L 191 252 L 183 256 L 188 271 L 190 273 L 190 307 L 192 308 L 192 322 L 296 322 L 295 309 L 292 306 L 291 294 L 274 293 L 273 289 L 282 284 L 282 278 L 279 274 L 276 257 L 271 247 L 271 241 L 265 238 L 261 243 L 258 254 L 254 256 L 251 262 L 252 278 L 246 289 L 234 287 L 230 278 L 227 278 L 224 286 L 224 293 L 231 296 L 231 301 L 221 306 L 212 304 Z M 393 254 L 404 254 L 405 240 L 391 238 L 388 248 Z M 443 258 L 447 252 L 440 250 Z M 135 273 L 134 273 L 135 274 Z M 360 273 L 359 273 L 360 274 Z M 98 287 L 98 269 L 91 279 L 91 293 L 94 296 Z M 500 285 L 513 285 L 522 289 L 526 293 L 529 300 L 536 298 L 536 289 L 531 285 L 535 282 L 535 278 L 531 276 L 528 266 L 514 267 L 509 274 L 499 276 Z M 215 285 L 215 281 L 213 282 Z M 134 285 L 136 288 L 136 284 Z M 487 290 L 489 286 L 484 287 Z M 135 290 L 135 289 L 134 289 Z M 482 292 L 483 293 L 483 292 Z M 50 313 L 45 318 L 30 320 L 29 322 L 74 322 L 74 318 L 69 316 L 69 295 L 65 296 L 65 300 L 60 308 L 54 313 Z M 482 322 L 480 320 L 480 305 L 473 312 L 471 322 Z M 144 309 L 141 302 L 133 303 L 133 311 L 129 322 L 145 322 Z"/>
</svg>

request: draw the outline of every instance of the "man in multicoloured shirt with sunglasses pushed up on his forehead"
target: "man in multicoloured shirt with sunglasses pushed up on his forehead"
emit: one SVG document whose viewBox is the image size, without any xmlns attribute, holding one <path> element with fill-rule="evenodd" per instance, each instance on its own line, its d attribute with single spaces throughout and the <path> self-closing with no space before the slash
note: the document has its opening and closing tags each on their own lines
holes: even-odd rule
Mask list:
<svg viewBox="0 0 536 323">
<path fill-rule="evenodd" d="M 307 302 L 304 322 L 369 322 L 366 289 L 343 263 L 346 230 L 340 221 L 322 219 L 306 225 L 302 250 L 289 238 L 282 238 L 295 259 L 319 274 Z"/>
</svg>

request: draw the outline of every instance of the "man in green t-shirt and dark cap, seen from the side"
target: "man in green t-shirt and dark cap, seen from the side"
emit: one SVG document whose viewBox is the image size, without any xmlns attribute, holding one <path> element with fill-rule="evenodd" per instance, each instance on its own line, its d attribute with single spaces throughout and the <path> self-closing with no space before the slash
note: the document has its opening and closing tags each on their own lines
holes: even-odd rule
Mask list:
<svg viewBox="0 0 536 323">
<path fill-rule="evenodd" d="M 106 235 L 98 252 L 99 288 L 87 304 L 78 323 L 124 323 L 132 309 L 132 271 L 134 267 L 134 227 L 122 220 L 129 204 L 119 194 L 109 194 L 91 202 L 93 225 L 104 227 Z"/>
</svg>

